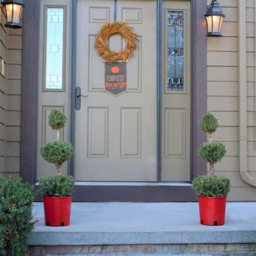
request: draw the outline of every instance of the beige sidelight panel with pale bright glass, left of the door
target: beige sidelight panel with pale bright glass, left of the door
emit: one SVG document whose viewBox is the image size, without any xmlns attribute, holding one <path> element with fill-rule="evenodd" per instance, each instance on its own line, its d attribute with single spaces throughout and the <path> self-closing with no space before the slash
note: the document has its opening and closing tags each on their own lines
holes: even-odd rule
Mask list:
<svg viewBox="0 0 256 256">
<path fill-rule="evenodd" d="M 56 166 L 47 163 L 40 155 L 40 147 L 56 140 L 57 132 L 48 125 L 52 109 L 58 109 L 69 116 L 70 88 L 70 1 L 40 1 L 40 31 L 38 52 L 38 112 L 37 112 L 37 179 L 55 175 Z M 62 12 L 60 12 L 62 11 Z M 62 15 L 60 15 L 63 13 Z M 66 26 L 67 24 L 67 26 Z M 62 68 L 61 68 L 62 67 Z M 60 88 L 60 84 L 61 88 Z M 68 140 L 68 125 L 60 131 L 60 139 Z M 62 174 L 67 174 L 67 163 Z"/>
</svg>

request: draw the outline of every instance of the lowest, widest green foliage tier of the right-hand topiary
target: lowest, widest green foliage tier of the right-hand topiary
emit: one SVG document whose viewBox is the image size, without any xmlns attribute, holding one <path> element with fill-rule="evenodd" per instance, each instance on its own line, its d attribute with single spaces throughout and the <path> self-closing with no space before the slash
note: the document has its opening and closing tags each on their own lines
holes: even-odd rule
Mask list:
<svg viewBox="0 0 256 256">
<path fill-rule="evenodd" d="M 199 196 L 223 197 L 230 190 L 230 180 L 224 176 L 201 175 L 192 181 L 192 189 Z"/>
</svg>

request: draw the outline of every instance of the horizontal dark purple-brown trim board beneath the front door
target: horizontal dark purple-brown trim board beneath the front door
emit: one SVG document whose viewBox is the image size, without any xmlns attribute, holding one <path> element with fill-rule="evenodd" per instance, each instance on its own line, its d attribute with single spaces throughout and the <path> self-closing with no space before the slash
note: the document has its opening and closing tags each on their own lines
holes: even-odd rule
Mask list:
<svg viewBox="0 0 256 256">
<path fill-rule="evenodd" d="M 37 188 L 38 189 L 38 186 Z M 169 185 L 77 185 L 72 201 L 76 202 L 186 202 L 196 201 L 197 196 L 190 186 Z M 36 201 L 42 201 L 38 195 Z"/>
</svg>

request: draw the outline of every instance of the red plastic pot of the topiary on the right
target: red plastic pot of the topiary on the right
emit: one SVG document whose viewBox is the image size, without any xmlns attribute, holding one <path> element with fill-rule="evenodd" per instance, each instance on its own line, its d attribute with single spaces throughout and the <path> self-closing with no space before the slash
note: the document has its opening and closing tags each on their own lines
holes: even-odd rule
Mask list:
<svg viewBox="0 0 256 256">
<path fill-rule="evenodd" d="M 211 198 L 198 196 L 200 223 L 203 225 L 224 225 L 227 196 Z"/>
</svg>

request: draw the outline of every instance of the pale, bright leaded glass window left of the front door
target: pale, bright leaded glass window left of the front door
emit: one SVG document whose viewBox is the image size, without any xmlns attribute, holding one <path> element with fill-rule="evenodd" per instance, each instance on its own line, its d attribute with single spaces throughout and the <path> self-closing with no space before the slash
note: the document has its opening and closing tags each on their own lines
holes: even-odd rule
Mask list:
<svg viewBox="0 0 256 256">
<path fill-rule="evenodd" d="M 65 9 L 63 7 L 47 7 L 44 74 L 46 90 L 63 90 L 64 88 L 64 29 Z"/>
</svg>

